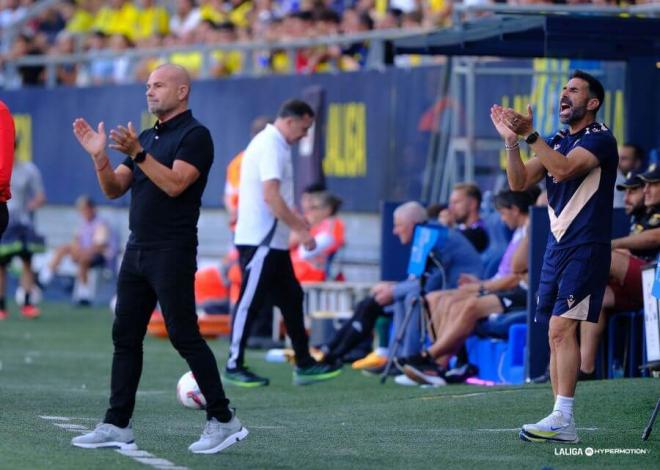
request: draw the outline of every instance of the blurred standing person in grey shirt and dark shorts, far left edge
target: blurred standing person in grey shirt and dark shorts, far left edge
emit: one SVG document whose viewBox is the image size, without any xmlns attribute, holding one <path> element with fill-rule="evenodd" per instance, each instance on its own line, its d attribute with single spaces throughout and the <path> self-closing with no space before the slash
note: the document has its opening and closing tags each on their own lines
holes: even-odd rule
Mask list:
<svg viewBox="0 0 660 470">
<path fill-rule="evenodd" d="M 32 256 L 46 248 L 44 237 L 36 232 L 34 214 L 46 202 L 41 172 L 30 161 L 14 159 L 11 176 L 12 198 L 7 204 L 9 225 L 0 238 L 0 317 L 7 316 L 5 291 L 7 289 L 7 265 L 14 256 L 22 262 L 20 311 L 26 318 L 39 316 L 33 304 L 35 289 Z"/>
</svg>

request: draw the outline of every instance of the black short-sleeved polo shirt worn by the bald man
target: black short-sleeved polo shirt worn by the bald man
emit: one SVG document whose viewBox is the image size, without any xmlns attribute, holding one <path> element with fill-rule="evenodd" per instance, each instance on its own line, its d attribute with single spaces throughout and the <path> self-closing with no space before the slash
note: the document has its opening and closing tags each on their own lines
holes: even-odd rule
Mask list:
<svg viewBox="0 0 660 470">
<path fill-rule="evenodd" d="M 166 122 L 157 122 L 143 131 L 139 140 L 149 155 L 168 168 L 174 160 L 183 160 L 195 166 L 200 176 L 179 196 L 170 197 L 126 157 L 123 164 L 133 171 L 128 247 L 196 247 L 202 193 L 213 163 L 209 130 L 187 110 Z"/>
</svg>

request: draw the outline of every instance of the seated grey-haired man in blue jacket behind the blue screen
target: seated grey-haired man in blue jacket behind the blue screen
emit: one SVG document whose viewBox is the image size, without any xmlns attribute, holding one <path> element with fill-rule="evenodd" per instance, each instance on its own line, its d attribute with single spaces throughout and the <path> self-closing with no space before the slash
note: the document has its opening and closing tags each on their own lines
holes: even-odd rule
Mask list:
<svg viewBox="0 0 660 470">
<path fill-rule="evenodd" d="M 394 234 L 399 237 L 403 245 L 406 245 L 413 240 L 415 226 L 425 221 L 426 211 L 421 204 L 417 202 L 402 204 L 394 211 Z M 481 259 L 470 242 L 459 231 L 446 228 L 442 230 L 448 230 L 447 237 L 433 248 L 434 256 L 442 269 L 435 263 L 427 263 L 424 273 L 425 291 L 442 288 L 443 284 L 455 287 L 463 273 L 472 275 L 481 273 Z M 351 320 L 337 332 L 328 345 L 321 348 L 325 353 L 324 360 L 329 362 L 341 360 L 360 341 L 371 335 L 378 317 L 388 315 L 389 311 L 394 311 L 394 327 L 397 331 L 411 296 L 419 295 L 423 295 L 420 279 L 376 284 L 371 290 L 371 296 L 357 305 Z M 410 322 L 400 350 L 402 355 L 411 355 L 419 351 L 423 335 L 420 328 L 415 326 L 420 323 L 419 316 L 417 321 Z"/>
</svg>

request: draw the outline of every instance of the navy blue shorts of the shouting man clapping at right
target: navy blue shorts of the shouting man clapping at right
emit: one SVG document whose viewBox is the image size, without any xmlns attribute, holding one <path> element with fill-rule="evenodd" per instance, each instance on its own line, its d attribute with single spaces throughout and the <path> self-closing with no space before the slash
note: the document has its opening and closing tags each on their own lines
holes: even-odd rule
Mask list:
<svg viewBox="0 0 660 470">
<path fill-rule="evenodd" d="M 609 244 L 549 249 L 543 258 L 535 321 L 552 315 L 598 322 L 610 273 Z"/>
</svg>

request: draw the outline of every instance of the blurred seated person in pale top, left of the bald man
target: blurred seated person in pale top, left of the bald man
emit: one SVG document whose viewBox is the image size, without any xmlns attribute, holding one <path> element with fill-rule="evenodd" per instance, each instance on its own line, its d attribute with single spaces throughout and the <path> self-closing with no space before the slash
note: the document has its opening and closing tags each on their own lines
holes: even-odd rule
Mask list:
<svg viewBox="0 0 660 470">
<path fill-rule="evenodd" d="M 92 301 L 89 270 L 109 266 L 117 254 L 117 243 L 110 226 L 98 216 L 96 204 L 89 196 L 80 196 L 76 201 L 76 208 L 82 217 L 82 223 L 73 240 L 55 250 L 48 265 L 39 273 L 39 282 L 44 286 L 49 284 L 64 257 L 70 256 L 78 265 L 74 301 L 89 305 Z"/>
</svg>

